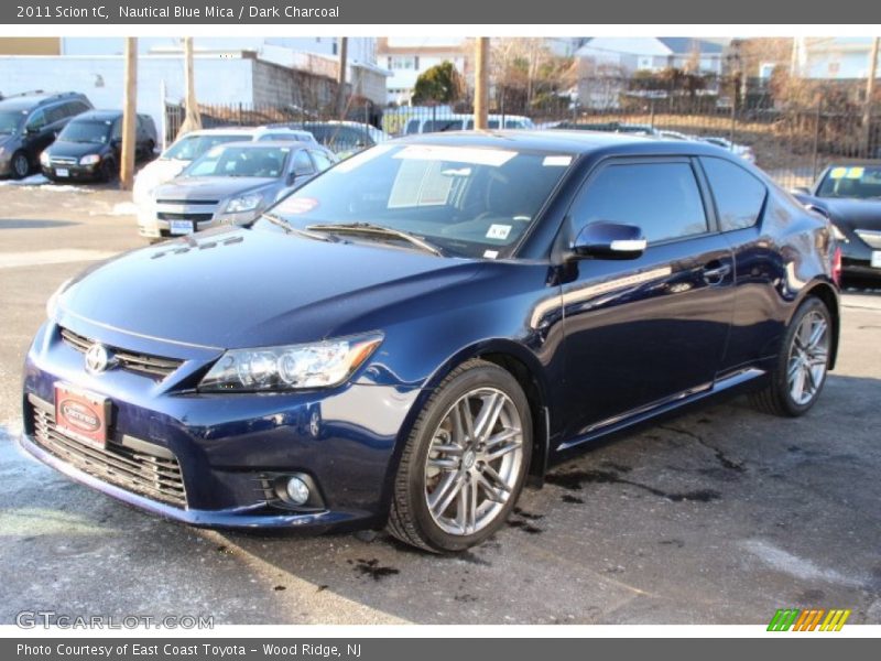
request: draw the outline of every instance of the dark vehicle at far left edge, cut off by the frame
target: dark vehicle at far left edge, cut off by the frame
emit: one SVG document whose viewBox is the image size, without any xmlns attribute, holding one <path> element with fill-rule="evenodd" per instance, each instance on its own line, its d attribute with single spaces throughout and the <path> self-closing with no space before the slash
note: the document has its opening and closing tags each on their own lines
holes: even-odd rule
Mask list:
<svg viewBox="0 0 881 661">
<path fill-rule="evenodd" d="M 40 153 L 72 117 L 91 109 L 85 95 L 42 91 L 0 101 L 0 176 L 23 178 L 39 167 Z"/>
</svg>

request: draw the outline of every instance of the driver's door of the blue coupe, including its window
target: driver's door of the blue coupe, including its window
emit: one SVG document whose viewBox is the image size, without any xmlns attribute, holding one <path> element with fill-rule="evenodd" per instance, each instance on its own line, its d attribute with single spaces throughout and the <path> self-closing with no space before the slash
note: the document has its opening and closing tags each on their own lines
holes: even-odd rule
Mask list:
<svg viewBox="0 0 881 661">
<path fill-rule="evenodd" d="M 635 259 L 575 262 L 563 285 L 566 436 L 710 388 L 733 314 L 733 268 L 696 163 L 608 161 L 576 196 L 569 223 L 576 232 L 635 225 L 649 243 Z"/>
</svg>

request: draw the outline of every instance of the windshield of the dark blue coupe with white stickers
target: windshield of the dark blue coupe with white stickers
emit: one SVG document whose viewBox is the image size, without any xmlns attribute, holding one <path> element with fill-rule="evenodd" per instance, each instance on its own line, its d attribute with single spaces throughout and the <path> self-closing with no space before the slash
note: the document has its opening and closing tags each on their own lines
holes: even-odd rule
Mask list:
<svg viewBox="0 0 881 661">
<path fill-rule="evenodd" d="M 270 213 L 297 229 L 348 225 L 351 234 L 379 226 L 449 256 L 503 258 L 573 161 L 507 145 L 382 144 L 328 170 Z"/>
</svg>

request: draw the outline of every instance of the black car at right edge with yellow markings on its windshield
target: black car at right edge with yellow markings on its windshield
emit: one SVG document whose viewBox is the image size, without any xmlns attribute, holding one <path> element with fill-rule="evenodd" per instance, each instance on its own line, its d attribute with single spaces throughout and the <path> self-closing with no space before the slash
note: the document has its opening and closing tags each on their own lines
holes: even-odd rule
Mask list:
<svg viewBox="0 0 881 661">
<path fill-rule="evenodd" d="M 795 196 L 833 221 L 846 274 L 881 278 L 881 163 L 833 164 Z"/>
</svg>

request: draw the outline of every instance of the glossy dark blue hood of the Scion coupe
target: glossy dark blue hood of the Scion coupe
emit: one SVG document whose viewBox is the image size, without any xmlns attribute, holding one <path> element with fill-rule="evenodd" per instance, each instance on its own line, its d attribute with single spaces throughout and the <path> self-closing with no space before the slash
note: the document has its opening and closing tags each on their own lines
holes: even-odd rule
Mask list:
<svg viewBox="0 0 881 661">
<path fill-rule="evenodd" d="M 389 306 L 406 308 L 481 264 L 275 228 L 218 228 L 93 267 L 59 296 L 55 318 L 217 348 L 315 342 L 394 323 L 382 318 Z"/>
</svg>

